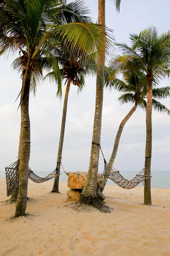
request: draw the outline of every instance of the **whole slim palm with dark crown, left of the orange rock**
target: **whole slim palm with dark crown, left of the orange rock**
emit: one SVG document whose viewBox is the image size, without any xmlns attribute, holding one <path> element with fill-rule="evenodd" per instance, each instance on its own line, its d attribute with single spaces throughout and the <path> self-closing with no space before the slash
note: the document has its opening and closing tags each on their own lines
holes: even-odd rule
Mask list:
<svg viewBox="0 0 170 256">
<path fill-rule="evenodd" d="M 94 53 L 96 55 L 96 53 Z M 70 90 L 71 82 L 74 85 L 79 87 L 79 91 L 85 86 L 85 76 L 95 73 L 96 70 L 96 61 L 94 63 L 88 61 L 89 56 L 88 53 L 84 55 L 79 55 L 79 51 L 73 52 L 68 47 L 67 49 L 56 49 L 55 57 L 59 62 L 59 65 L 62 67 L 60 69 L 62 79 L 65 79 L 65 84 L 67 84 L 65 89 L 65 97 L 62 111 L 62 123 L 61 123 L 61 131 L 59 138 L 59 147 L 57 154 L 57 167 L 56 173 L 60 173 L 60 164 L 62 160 L 62 148 L 64 143 L 64 134 L 65 134 L 65 123 L 66 123 L 66 115 L 67 115 L 67 105 L 68 105 L 68 94 Z M 90 57 L 91 58 L 91 57 Z M 92 59 L 95 60 L 93 57 Z M 51 81 L 56 81 L 54 72 L 48 73 L 45 76 L 46 78 L 50 78 Z M 61 96 L 61 88 L 58 87 L 57 96 Z M 59 176 L 55 177 L 54 185 L 51 192 L 59 193 Z"/>
</svg>

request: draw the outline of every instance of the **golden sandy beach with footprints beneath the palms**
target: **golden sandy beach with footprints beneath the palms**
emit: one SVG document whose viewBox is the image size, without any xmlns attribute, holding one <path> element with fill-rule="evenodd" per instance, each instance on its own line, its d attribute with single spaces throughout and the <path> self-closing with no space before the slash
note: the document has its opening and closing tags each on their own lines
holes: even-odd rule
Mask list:
<svg viewBox="0 0 170 256">
<path fill-rule="evenodd" d="M 144 206 L 143 187 L 106 186 L 109 213 L 76 212 L 62 194 L 49 193 L 52 182 L 29 180 L 27 217 L 10 218 L 15 204 L 6 202 L 0 178 L 1 256 L 170 256 L 170 189 L 152 189 L 152 206 Z"/>
</svg>

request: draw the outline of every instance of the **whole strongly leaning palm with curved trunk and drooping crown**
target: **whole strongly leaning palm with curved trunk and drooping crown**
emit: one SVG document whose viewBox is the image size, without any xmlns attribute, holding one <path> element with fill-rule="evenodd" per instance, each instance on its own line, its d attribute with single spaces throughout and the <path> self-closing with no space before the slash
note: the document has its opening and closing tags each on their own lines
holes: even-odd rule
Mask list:
<svg viewBox="0 0 170 256">
<path fill-rule="evenodd" d="M 106 69 L 106 71 L 109 71 L 109 69 Z M 147 86 L 147 79 L 146 75 L 142 72 L 138 73 L 130 73 L 125 72 L 124 73 L 124 81 L 120 79 L 109 79 L 109 72 L 106 72 L 105 75 L 105 85 L 106 87 L 110 87 L 111 89 L 114 88 L 118 92 L 123 93 L 118 100 L 124 104 L 124 103 L 132 103 L 133 107 L 129 111 L 129 113 L 125 116 L 125 118 L 122 120 L 122 122 L 119 125 L 119 129 L 116 134 L 116 138 L 114 141 L 113 151 L 108 163 L 109 168 L 106 169 L 106 172 L 109 173 L 110 169 L 113 166 L 117 150 L 119 147 L 119 141 L 120 137 L 122 135 L 123 128 L 126 124 L 126 122 L 129 120 L 130 116 L 133 115 L 133 113 L 136 111 L 136 108 L 142 108 L 146 110 L 147 102 L 145 99 L 147 98 L 147 92 L 148 92 L 148 86 Z M 162 105 L 160 102 L 158 102 L 156 99 L 160 98 L 167 98 L 170 96 L 170 87 L 162 87 L 162 88 L 153 88 L 153 99 L 152 99 L 152 108 L 156 111 L 159 111 L 161 113 L 167 113 L 170 116 L 170 110 L 166 108 L 164 105 Z M 99 187 L 99 190 L 103 192 L 105 185 L 107 183 L 108 178 L 105 177 L 102 181 L 101 186 Z"/>
</svg>

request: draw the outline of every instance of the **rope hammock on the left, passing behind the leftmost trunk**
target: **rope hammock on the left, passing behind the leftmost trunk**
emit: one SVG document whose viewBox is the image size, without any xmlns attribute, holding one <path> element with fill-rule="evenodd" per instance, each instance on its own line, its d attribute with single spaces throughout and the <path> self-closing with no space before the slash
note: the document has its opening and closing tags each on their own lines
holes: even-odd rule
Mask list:
<svg viewBox="0 0 170 256">
<path fill-rule="evenodd" d="M 20 160 L 12 163 L 6 167 L 6 187 L 7 187 L 7 196 L 11 195 L 19 186 L 19 171 L 20 171 Z M 30 168 L 28 169 L 28 178 L 36 183 L 42 183 L 47 180 L 51 180 L 56 177 L 56 170 L 48 174 L 46 177 L 42 178 L 36 175 Z"/>
</svg>

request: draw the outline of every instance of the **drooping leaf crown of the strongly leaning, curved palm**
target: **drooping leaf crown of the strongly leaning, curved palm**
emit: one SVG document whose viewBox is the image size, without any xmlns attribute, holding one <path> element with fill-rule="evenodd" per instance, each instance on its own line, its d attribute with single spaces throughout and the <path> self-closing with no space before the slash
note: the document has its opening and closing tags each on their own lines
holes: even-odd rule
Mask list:
<svg viewBox="0 0 170 256">
<path fill-rule="evenodd" d="M 118 100 L 124 103 L 136 103 L 140 108 L 146 110 L 147 102 L 147 77 L 146 74 L 142 72 L 131 73 L 124 72 L 123 80 L 118 78 L 111 78 L 111 68 L 105 67 L 105 86 L 110 89 L 115 89 L 118 92 L 123 93 L 119 96 Z M 170 87 L 153 88 L 153 100 L 152 107 L 154 110 L 160 113 L 167 113 L 170 115 L 170 110 L 165 107 L 161 102 L 156 99 L 166 99 L 170 96 Z"/>
</svg>

